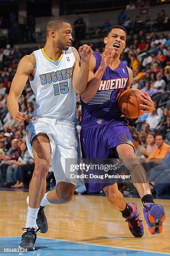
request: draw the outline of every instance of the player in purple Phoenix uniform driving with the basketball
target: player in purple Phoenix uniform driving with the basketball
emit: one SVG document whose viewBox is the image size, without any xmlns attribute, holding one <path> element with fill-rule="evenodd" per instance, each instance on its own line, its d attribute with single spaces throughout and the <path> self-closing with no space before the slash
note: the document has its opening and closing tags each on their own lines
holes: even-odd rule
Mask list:
<svg viewBox="0 0 170 256">
<path fill-rule="evenodd" d="M 130 88 L 132 70 L 119 60 L 126 46 L 127 31 L 122 26 L 112 26 L 104 38 L 103 54 L 94 52 L 89 65 L 89 82 L 81 93 L 82 128 L 81 150 L 86 159 L 106 159 L 118 155 L 129 169 L 132 182 L 136 187 L 143 206 L 144 216 L 151 234 L 162 231 L 165 211 L 153 202 L 147 181 L 147 175 L 134 154 L 132 136 L 125 118 L 121 118 L 118 108 L 118 97 Z M 141 112 L 152 112 L 154 105 L 146 92 L 141 94 L 145 105 Z M 129 161 L 130 159 L 130 161 Z M 90 171 L 94 173 L 94 171 Z M 95 173 L 96 174 L 96 173 Z M 95 179 L 86 184 L 87 192 L 94 193 L 101 189 L 109 202 L 122 212 L 129 224 L 129 230 L 135 237 L 142 237 L 144 230 L 142 220 L 138 217 L 137 206 L 133 202 L 126 203 L 117 187 L 117 180 L 102 183 Z"/>
</svg>

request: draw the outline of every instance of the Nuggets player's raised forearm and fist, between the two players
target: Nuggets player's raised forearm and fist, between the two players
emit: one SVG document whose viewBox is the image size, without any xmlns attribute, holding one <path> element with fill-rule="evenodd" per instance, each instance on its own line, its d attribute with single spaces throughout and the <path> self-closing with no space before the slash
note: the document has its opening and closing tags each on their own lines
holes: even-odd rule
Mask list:
<svg viewBox="0 0 170 256">
<path fill-rule="evenodd" d="M 80 94 L 81 92 L 84 92 L 87 86 L 88 77 L 89 77 L 89 61 L 91 58 L 91 55 L 93 54 L 93 51 L 91 50 L 91 47 L 87 44 L 84 44 L 83 46 L 79 47 L 79 53 L 78 51 L 73 48 L 74 55 L 76 57 L 76 61 L 73 67 L 73 78 L 72 78 L 72 84 L 73 89 L 76 93 Z M 81 65 L 80 63 L 80 56 L 81 56 Z"/>
</svg>

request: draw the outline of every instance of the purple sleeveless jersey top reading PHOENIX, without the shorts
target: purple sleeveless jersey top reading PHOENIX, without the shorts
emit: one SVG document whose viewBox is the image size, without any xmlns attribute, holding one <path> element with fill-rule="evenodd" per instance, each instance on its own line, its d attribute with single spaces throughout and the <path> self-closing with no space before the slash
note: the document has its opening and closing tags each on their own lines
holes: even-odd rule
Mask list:
<svg viewBox="0 0 170 256">
<path fill-rule="evenodd" d="M 101 63 L 101 54 L 94 52 L 94 56 L 97 70 Z M 114 69 L 107 66 L 96 95 L 88 103 L 84 103 L 81 100 L 82 122 L 89 122 L 99 118 L 103 120 L 120 118 L 121 113 L 117 105 L 117 98 L 126 89 L 128 81 L 129 73 L 122 61 L 119 60 Z"/>
</svg>

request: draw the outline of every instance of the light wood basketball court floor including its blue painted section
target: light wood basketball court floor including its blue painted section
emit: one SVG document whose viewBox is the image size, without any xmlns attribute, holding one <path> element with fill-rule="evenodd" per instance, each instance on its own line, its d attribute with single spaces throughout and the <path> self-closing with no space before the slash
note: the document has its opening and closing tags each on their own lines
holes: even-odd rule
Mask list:
<svg viewBox="0 0 170 256">
<path fill-rule="evenodd" d="M 65 205 L 47 205 L 48 232 L 38 232 L 35 251 L 10 252 L 18 248 L 25 226 L 28 192 L 0 191 L 0 255 L 170 255 L 170 200 L 155 200 L 166 211 L 163 232 L 150 235 L 142 214 L 139 198 L 126 198 L 136 203 L 143 220 L 144 236 L 134 238 L 120 212 L 106 197 L 74 195 Z M 25 254 L 26 253 L 26 254 Z"/>
</svg>

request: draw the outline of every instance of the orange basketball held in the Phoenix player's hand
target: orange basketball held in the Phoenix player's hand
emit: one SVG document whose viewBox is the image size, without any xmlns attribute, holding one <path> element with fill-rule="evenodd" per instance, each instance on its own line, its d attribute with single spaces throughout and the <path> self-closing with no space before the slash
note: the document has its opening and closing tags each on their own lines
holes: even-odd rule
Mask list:
<svg viewBox="0 0 170 256">
<path fill-rule="evenodd" d="M 118 106 L 120 112 L 127 118 L 138 118 L 142 113 L 140 112 L 140 104 L 144 104 L 140 100 L 143 92 L 138 89 L 125 90 L 119 97 Z"/>
</svg>

